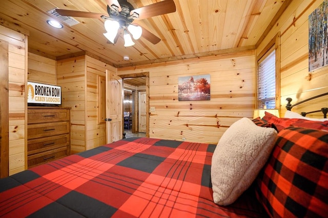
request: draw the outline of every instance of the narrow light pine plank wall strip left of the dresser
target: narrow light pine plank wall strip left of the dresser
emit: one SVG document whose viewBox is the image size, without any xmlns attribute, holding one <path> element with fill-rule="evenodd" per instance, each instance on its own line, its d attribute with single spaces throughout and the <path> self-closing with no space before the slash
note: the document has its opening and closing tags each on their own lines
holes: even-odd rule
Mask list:
<svg viewBox="0 0 328 218">
<path fill-rule="evenodd" d="M 27 40 L 28 36 L 0 26 L 0 40 L 8 41 L 9 57 L 9 175 L 25 169 Z"/>
</svg>

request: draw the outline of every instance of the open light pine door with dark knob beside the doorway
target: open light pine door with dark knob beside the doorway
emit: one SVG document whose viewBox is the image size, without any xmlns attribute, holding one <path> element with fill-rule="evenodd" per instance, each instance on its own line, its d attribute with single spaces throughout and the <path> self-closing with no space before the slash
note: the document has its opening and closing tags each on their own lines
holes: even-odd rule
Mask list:
<svg viewBox="0 0 328 218">
<path fill-rule="evenodd" d="M 112 143 L 122 139 L 122 78 L 106 71 L 106 139 Z"/>
</svg>

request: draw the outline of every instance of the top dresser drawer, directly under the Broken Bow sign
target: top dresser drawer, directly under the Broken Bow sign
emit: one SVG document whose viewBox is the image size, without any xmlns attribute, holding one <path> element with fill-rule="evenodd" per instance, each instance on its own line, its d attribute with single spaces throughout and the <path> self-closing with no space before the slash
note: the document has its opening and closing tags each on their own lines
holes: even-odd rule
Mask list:
<svg viewBox="0 0 328 218">
<path fill-rule="evenodd" d="M 67 121 L 70 119 L 70 111 L 68 109 L 30 109 L 28 110 L 27 122 L 42 123 Z"/>
</svg>

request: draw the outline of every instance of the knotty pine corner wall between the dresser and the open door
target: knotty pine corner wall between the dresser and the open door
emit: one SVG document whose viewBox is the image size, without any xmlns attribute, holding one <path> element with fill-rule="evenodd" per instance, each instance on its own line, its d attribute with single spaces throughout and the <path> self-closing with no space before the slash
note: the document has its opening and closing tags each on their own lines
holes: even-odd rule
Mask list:
<svg viewBox="0 0 328 218">
<path fill-rule="evenodd" d="M 62 105 L 71 107 L 71 152 L 106 144 L 106 123 L 98 123 L 98 80 L 108 64 L 87 55 L 57 61 Z"/>
</svg>

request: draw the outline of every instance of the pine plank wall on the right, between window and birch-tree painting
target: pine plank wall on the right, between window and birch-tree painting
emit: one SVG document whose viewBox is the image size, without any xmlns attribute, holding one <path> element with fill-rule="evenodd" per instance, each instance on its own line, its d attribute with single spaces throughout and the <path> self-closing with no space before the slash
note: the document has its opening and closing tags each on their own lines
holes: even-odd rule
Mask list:
<svg viewBox="0 0 328 218">
<path fill-rule="evenodd" d="M 322 3 L 322 0 L 293 1 L 273 26 L 268 36 L 259 43 L 259 54 L 274 35 L 281 34 L 281 115 L 286 111 L 286 98 L 292 103 L 328 92 L 328 67 L 309 72 L 309 15 Z M 327 97 L 312 100 L 304 106 L 299 105 L 292 111 L 320 110 L 328 107 Z M 312 116 L 312 117 L 319 117 Z M 311 117 L 310 115 L 308 115 Z M 320 116 L 320 118 L 322 118 Z"/>
</svg>

